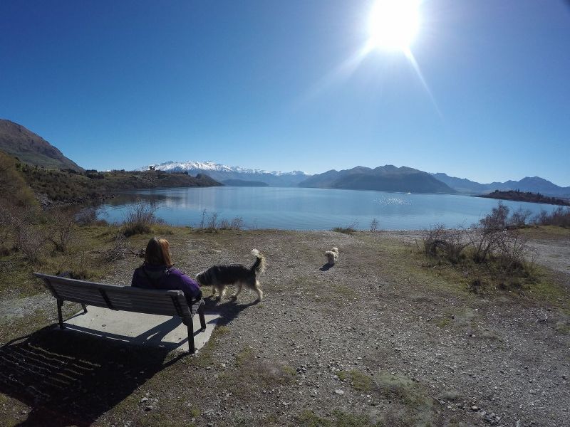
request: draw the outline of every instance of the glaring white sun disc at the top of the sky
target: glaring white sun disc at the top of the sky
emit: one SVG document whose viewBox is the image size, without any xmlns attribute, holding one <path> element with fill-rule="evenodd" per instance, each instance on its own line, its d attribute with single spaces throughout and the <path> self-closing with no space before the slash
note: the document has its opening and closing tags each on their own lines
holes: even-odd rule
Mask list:
<svg viewBox="0 0 570 427">
<path fill-rule="evenodd" d="M 371 46 L 389 51 L 409 51 L 420 27 L 419 0 L 377 0 L 368 31 Z"/>
</svg>

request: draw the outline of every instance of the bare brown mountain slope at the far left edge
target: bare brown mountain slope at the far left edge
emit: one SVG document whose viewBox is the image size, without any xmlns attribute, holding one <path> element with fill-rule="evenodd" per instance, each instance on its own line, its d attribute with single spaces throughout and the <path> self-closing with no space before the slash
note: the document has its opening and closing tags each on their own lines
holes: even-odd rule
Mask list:
<svg viewBox="0 0 570 427">
<path fill-rule="evenodd" d="M 10 120 L 0 119 L 0 149 L 24 163 L 78 172 L 84 170 L 46 139 Z"/>
</svg>

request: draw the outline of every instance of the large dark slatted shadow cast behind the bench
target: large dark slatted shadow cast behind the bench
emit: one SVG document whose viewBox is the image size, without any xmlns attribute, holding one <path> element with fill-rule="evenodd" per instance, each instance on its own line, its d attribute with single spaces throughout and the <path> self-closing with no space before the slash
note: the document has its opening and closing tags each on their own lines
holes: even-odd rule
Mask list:
<svg viewBox="0 0 570 427">
<path fill-rule="evenodd" d="M 17 426 L 90 426 L 182 357 L 50 325 L 0 347 L 0 393 L 31 407 Z"/>
</svg>

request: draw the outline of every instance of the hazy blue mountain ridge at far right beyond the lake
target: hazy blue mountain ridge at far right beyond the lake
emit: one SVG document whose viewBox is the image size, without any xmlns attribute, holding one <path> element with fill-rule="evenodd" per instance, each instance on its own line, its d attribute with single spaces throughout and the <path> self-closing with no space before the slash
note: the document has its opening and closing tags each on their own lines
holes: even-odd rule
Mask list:
<svg viewBox="0 0 570 427">
<path fill-rule="evenodd" d="M 443 173 L 432 174 L 438 180 L 445 182 L 452 189 L 462 194 L 487 194 L 495 190 L 509 191 L 520 190 L 540 193 L 546 196 L 570 197 L 570 187 L 561 187 L 552 184 L 539 176 L 521 179 L 520 181 L 492 182 L 480 184 L 465 178 L 455 178 Z"/>
</svg>

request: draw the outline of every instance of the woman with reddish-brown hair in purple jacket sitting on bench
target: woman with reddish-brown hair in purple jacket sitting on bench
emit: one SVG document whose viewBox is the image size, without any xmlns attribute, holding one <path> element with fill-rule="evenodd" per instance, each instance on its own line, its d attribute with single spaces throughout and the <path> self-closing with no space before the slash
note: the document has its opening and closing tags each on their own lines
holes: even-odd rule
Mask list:
<svg viewBox="0 0 570 427">
<path fill-rule="evenodd" d="M 192 307 L 192 301 L 202 297 L 199 285 L 182 271 L 172 268 L 170 245 L 165 238 L 153 237 L 147 244 L 145 262 L 133 273 L 130 285 L 135 288 L 182 290 Z"/>
</svg>

